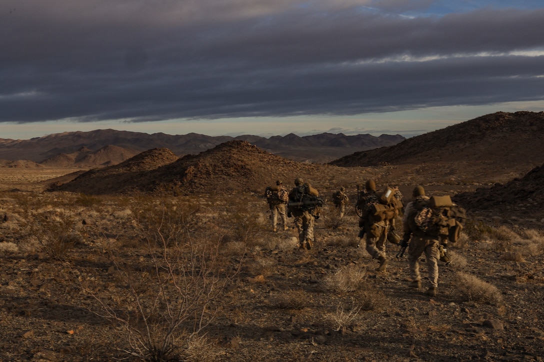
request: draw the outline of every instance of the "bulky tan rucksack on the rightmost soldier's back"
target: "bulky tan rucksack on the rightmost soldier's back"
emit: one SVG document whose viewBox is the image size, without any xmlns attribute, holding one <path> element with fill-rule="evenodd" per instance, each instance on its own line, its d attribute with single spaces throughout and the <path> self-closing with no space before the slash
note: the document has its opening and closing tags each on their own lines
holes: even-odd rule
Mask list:
<svg viewBox="0 0 544 362">
<path fill-rule="evenodd" d="M 417 236 L 436 236 L 450 242 L 459 240 L 466 221 L 466 211 L 452 202 L 449 195 L 417 199 L 408 215 L 410 229 Z"/>
</svg>

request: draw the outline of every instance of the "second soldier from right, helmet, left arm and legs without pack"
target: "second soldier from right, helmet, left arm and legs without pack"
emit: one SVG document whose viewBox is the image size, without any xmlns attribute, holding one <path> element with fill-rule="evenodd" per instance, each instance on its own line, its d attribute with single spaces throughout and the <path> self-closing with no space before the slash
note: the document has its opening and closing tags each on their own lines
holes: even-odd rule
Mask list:
<svg viewBox="0 0 544 362">
<path fill-rule="evenodd" d="M 367 180 L 364 185 L 364 192 L 357 201 L 357 209 L 361 210 L 359 227 L 361 231 L 359 237 L 362 239 L 366 234 L 366 251 L 374 258 L 380 261 L 377 271 L 385 271 L 387 267 L 387 254 L 385 244 L 387 241 L 387 229 L 390 226 L 390 220 L 373 219 L 369 213 L 369 207 L 378 203 L 376 194 L 376 184 L 374 180 Z"/>
</svg>

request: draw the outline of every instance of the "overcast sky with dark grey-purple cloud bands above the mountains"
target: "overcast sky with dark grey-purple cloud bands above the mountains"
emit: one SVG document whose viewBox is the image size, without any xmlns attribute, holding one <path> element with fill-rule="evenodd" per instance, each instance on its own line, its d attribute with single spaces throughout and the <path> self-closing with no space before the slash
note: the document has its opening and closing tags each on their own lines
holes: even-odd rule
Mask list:
<svg viewBox="0 0 544 362">
<path fill-rule="evenodd" d="M 1 0 L 0 138 L 411 136 L 544 110 L 541 0 Z"/>
</svg>

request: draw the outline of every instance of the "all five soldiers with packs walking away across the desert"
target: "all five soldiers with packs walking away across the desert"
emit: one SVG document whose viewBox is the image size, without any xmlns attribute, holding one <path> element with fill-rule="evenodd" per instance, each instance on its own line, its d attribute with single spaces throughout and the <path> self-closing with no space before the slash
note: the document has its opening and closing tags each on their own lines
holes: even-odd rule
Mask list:
<svg viewBox="0 0 544 362">
<path fill-rule="evenodd" d="M 295 187 L 288 192 L 280 180 L 276 185 L 269 186 L 265 190 L 265 197 L 270 207 L 270 218 L 274 232 L 277 232 L 278 219 L 281 218 L 283 229 L 287 230 L 287 218 L 294 217 L 294 224 L 298 230 L 299 248 L 309 250 L 314 244 L 313 226 L 314 221 L 319 219 L 323 199 L 319 198 L 319 192 L 302 178 L 295 179 Z M 349 202 L 342 186 L 338 191 L 333 192 L 332 201 L 338 211 L 338 217 L 344 217 L 345 207 Z M 454 242 L 452 230 L 457 224 L 456 233 L 462 225 L 452 217 L 444 221 L 440 217 L 431 217 L 433 210 L 447 206 L 448 211 L 438 211 L 446 215 L 450 213 L 451 199 L 447 197 L 428 197 L 422 186 L 416 186 L 412 192 L 412 201 L 405 204 L 403 195 L 398 187 L 386 187 L 384 190 L 376 191 L 374 180 L 367 180 L 364 190 L 357 190 L 356 213 L 359 217 L 358 238 L 364 239 L 366 251 L 379 261 L 376 268 L 378 272 L 384 272 L 387 268 L 388 257 L 386 254 L 387 241 L 401 246 L 401 252 L 397 257 L 404 254 L 407 248 L 407 259 L 410 267 L 410 287 L 419 289 L 422 287 L 421 275 L 419 273 L 419 257 L 424 253 L 428 269 L 428 289 L 425 294 L 436 296 L 438 287 L 438 260 L 447 261 L 448 255 L 445 252 L 449 241 Z M 449 203 L 449 204 L 448 204 Z M 462 208 L 461 208 L 462 209 Z M 464 213 L 464 210 L 463 210 Z M 400 237 L 395 225 L 396 220 L 402 221 L 404 233 Z M 453 222 L 452 222 L 453 220 Z M 436 224 L 436 225 L 434 225 Z M 448 225 L 453 227 L 449 228 Z M 438 230 L 438 231 L 437 231 Z M 444 231 L 445 230 L 445 231 Z M 448 235 L 449 233 L 449 235 Z"/>
</svg>

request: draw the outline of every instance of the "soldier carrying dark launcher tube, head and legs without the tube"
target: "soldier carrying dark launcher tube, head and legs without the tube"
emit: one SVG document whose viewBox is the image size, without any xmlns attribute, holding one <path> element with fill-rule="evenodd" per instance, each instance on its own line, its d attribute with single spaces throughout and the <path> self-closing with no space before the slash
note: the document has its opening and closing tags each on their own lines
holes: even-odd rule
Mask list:
<svg viewBox="0 0 544 362">
<path fill-rule="evenodd" d="M 319 193 L 316 189 L 313 189 L 310 184 L 304 183 L 304 180 L 300 177 L 295 179 L 295 187 L 289 192 L 289 202 L 298 201 L 296 195 L 303 195 L 308 192 L 308 190 L 314 190 L 314 193 L 319 196 Z M 288 213 L 289 217 L 293 216 L 295 218 L 295 226 L 299 233 L 299 248 L 300 249 L 311 249 L 313 247 L 314 236 L 313 236 L 313 225 L 316 220 L 316 217 L 313 215 L 312 209 L 293 209 Z"/>
</svg>

